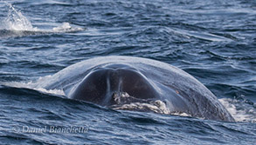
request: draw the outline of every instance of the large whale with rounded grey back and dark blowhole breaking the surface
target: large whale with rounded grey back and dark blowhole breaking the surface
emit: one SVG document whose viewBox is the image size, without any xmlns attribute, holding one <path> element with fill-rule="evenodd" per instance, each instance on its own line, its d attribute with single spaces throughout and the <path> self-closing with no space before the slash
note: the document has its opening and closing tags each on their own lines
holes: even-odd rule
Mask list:
<svg viewBox="0 0 256 145">
<path fill-rule="evenodd" d="M 113 109 L 151 109 L 163 114 L 185 113 L 209 120 L 234 121 L 218 98 L 196 78 L 168 63 L 148 58 L 95 57 L 62 69 L 36 86 L 63 89 L 68 98 Z"/>
</svg>

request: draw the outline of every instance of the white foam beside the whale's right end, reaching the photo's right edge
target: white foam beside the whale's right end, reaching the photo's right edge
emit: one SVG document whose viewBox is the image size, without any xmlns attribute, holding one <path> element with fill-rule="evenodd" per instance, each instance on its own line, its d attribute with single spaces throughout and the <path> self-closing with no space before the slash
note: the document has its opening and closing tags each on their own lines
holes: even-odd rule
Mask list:
<svg viewBox="0 0 256 145">
<path fill-rule="evenodd" d="M 218 99 L 236 122 L 256 122 L 256 109 L 245 101 L 222 98 Z"/>
</svg>

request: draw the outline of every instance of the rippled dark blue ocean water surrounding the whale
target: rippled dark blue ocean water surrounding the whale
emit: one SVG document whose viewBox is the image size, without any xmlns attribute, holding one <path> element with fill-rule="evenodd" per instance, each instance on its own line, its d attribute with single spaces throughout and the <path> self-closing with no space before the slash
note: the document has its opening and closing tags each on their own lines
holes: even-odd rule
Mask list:
<svg viewBox="0 0 256 145">
<path fill-rule="evenodd" d="M 107 109 L 28 87 L 113 55 L 185 70 L 236 122 Z M 2 0 L 0 82 L 0 144 L 255 144 L 256 2 Z"/>
</svg>

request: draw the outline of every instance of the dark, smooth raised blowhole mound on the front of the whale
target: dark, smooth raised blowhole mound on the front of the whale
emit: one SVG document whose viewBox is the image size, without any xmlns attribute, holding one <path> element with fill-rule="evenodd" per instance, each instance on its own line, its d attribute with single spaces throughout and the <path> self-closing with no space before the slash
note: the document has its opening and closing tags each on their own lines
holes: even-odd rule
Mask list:
<svg viewBox="0 0 256 145">
<path fill-rule="evenodd" d="M 69 97 L 110 106 L 117 103 L 114 100 L 116 96 L 124 93 L 139 99 L 158 96 L 151 82 L 138 69 L 127 64 L 115 63 L 92 69 Z"/>
</svg>

